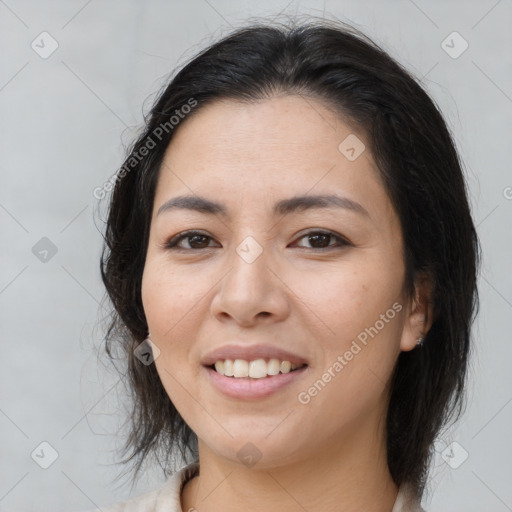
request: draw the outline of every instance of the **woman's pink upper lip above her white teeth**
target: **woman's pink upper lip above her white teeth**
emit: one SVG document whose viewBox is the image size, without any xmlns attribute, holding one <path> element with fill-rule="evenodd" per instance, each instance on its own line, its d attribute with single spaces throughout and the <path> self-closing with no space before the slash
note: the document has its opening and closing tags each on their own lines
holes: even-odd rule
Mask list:
<svg viewBox="0 0 512 512">
<path fill-rule="evenodd" d="M 245 361 L 279 359 L 280 361 L 290 361 L 290 363 L 298 366 L 307 364 L 306 360 L 299 355 L 270 345 L 223 345 L 208 352 L 202 359 L 201 364 L 211 366 L 217 361 L 226 359 L 244 359 Z"/>
</svg>

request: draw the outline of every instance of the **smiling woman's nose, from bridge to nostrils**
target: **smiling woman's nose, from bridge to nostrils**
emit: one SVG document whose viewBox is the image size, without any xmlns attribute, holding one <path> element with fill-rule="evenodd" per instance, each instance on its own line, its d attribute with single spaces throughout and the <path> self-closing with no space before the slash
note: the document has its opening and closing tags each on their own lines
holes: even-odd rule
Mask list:
<svg viewBox="0 0 512 512">
<path fill-rule="evenodd" d="M 233 249 L 229 256 L 227 273 L 212 301 L 212 314 L 242 327 L 283 321 L 290 310 L 288 287 L 272 261 L 270 249 L 263 249 L 252 261 L 241 246 L 240 252 Z"/>
</svg>

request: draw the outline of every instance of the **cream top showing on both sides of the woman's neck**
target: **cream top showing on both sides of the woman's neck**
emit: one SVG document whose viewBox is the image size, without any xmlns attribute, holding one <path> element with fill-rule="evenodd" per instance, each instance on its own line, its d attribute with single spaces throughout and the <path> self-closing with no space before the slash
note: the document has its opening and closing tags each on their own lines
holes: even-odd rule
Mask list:
<svg viewBox="0 0 512 512">
<path fill-rule="evenodd" d="M 193 462 L 174 473 L 159 489 L 88 512 L 187 512 L 181 508 L 181 491 L 185 483 L 197 475 L 198 470 L 199 464 Z M 425 511 L 411 498 L 408 488 L 401 487 L 391 512 Z"/>
</svg>

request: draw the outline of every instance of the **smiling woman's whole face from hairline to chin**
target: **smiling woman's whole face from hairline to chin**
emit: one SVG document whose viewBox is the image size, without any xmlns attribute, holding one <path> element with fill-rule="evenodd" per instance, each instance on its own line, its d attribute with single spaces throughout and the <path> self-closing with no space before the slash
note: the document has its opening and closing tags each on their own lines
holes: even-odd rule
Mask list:
<svg viewBox="0 0 512 512">
<path fill-rule="evenodd" d="M 166 152 L 143 306 L 170 399 L 219 457 L 253 451 L 275 467 L 382 432 L 390 375 L 417 333 L 399 220 L 368 147 L 320 102 L 285 96 L 203 107 Z M 258 359 L 252 371 L 280 373 L 211 368 L 226 359 L 237 375 Z"/>
</svg>

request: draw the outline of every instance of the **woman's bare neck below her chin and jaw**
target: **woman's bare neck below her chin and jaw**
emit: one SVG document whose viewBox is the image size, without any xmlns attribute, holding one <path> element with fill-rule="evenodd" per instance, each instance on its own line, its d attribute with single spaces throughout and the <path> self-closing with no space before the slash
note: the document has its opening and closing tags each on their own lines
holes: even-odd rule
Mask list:
<svg viewBox="0 0 512 512">
<path fill-rule="evenodd" d="M 391 512 L 398 489 L 383 436 L 358 431 L 293 464 L 247 468 L 199 441 L 200 475 L 182 493 L 183 511 Z"/>
</svg>

